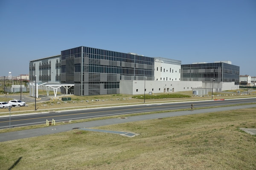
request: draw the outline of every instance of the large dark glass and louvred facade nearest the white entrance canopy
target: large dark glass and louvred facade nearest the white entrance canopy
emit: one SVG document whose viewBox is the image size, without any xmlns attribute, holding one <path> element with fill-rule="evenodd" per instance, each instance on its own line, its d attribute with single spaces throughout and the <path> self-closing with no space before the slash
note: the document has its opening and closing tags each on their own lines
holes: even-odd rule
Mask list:
<svg viewBox="0 0 256 170">
<path fill-rule="evenodd" d="M 120 80 L 154 80 L 154 58 L 90 47 L 61 51 L 61 84 L 78 96 L 119 94 Z M 71 89 L 70 89 L 71 90 Z"/>
</svg>

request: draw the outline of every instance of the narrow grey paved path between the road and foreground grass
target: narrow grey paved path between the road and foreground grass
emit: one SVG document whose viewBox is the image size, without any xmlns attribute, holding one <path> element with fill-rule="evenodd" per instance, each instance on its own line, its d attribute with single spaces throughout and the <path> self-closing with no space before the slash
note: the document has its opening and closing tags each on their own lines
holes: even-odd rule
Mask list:
<svg viewBox="0 0 256 170">
<path fill-rule="evenodd" d="M 149 120 L 149 119 L 160 119 L 160 118 L 172 117 L 172 116 L 183 116 L 183 115 L 189 115 L 189 114 L 229 111 L 234 109 L 255 108 L 255 107 L 256 107 L 256 104 L 227 106 L 227 107 L 218 107 L 218 108 L 198 109 L 194 111 L 186 110 L 186 111 L 155 113 L 155 114 L 139 115 L 139 116 L 129 116 L 129 117 L 126 117 L 126 119 L 114 118 L 114 119 L 96 120 L 96 121 L 81 122 L 81 123 L 74 123 L 74 124 L 67 124 L 67 125 L 48 126 L 43 128 L 37 128 L 37 129 L 21 130 L 21 131 L 9 132 L 9 133 L 0 133 L 0 142 L 5 142 L 5 141 L 10 141 L 15 139 L 30 138 L 35 136 L 43 136 L 43 135 L 48 135 L 53 133 L 60 133 L 60 132 L 73 130 L 76 128 L 91 128 L 91 127 L 97 127 L 97 126 L 113 125 L 113 124 L 135 122 L 135 121 L 142 121 L 142 120 Z"/>
</svg>

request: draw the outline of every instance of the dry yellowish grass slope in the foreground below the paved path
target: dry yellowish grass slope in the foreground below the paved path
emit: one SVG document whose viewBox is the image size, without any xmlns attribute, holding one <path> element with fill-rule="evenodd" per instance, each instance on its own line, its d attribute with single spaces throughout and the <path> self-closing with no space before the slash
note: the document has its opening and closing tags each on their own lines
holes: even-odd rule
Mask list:
<svg viewBox="0 0 256 170">
<path fill-rule="evenodd" d="M 256 109 L 177 116 L 97 127 L 128 138 L 72 130 L 0 143 L 3 170 L 255 170 Z"/>
</svg>

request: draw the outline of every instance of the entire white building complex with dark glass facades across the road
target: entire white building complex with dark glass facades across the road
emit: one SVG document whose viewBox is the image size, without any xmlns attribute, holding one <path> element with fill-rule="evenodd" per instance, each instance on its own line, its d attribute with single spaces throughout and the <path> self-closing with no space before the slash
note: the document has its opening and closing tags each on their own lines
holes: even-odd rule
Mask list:
<svg viewBox="0 0 256 170">
<path fill-rule="evenodd" d="M 211 89 L 213 79 L 221 91 L 235 88 L 239 67 L 226 62 L 181 65 L 175 59 L 81 46 L 30 61 L 29 79 L 78 96 Z"/>
</svg>

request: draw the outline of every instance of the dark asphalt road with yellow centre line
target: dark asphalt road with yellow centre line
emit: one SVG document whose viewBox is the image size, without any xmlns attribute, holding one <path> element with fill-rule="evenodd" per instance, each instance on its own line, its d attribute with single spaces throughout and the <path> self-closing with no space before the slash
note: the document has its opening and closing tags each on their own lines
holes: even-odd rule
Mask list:
<svg viewBox="0 0 256 170">
<path fill-rule="evenodd" d="M 214 107 L 221 105 L 235 105 L 241 103 L 256 103 L 256 98 L 240 98 L 240 99 L 226 99 L 226 100 L 210 100 L 210 101 L 193 101 L 194 108 Z M 0 129 L 9 127 L 21 127 L 28 125 L 39 125 L 46 123 L 46 120 L 55 122 L 66 122 L 70 120 L 89 119 L 103 116 L 116 116 L 132 113 L 144 113 L 151 111 L 166 111 L 177 109 L 190 110 L 191 102 L 172 102 L 172 103 L 158 103 L 158 104 L 143 104 L 143 105 L 129 105 L 118 107 L 105 108 L 90 108 L 90 109 L 76 109 L 68 111 L 59 111 L 55 113 L 37 113 L 29 115 L 6 115 L 0 117 Z"/>
</svg>

